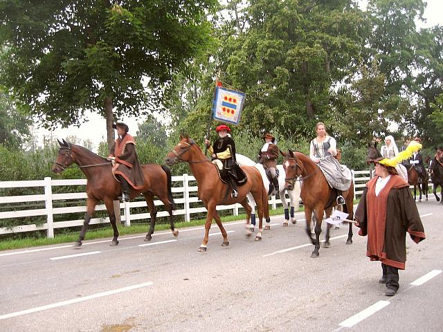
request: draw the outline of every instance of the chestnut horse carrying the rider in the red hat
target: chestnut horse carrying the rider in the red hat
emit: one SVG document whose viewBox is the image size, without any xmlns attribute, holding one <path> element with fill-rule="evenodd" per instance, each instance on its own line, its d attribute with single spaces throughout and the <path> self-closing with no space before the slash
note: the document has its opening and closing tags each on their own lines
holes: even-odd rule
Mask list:
<svg viewBox="0 0 443 332">
<path fill-rule="evenodd" d="M 195 141 L 188 138 L 188 136 L 180 136 L 180 142 L 177 144 L 166 156 L 166 164 L 169 166 L 175 163 L 188 163 L 192 174 L 194 174 L 199 187 L 199 199 L 203 201 L 208 214 L 205 223 L 205 236 L 201 241 L 199 252 L 204 252 L 208 248 L 210 225 L 215 219 L 219 226 L 221 235 L 223 236 L 223 243 L 221 246 L 228 246 L 228 234 L 224 229 L 221 219 L 217 214 L 217 205 L 230 205 L 233 203 L 240 203 L 246 211 L 246 234 L 249 236 L 251 232 L 248 230 L 248 225 L 251 218 L 251 207 L 248 205 L 246 195 L 251 193 L 255 203 L 257 204 L 259 226 L 258 234 L 255 241 L 262 239 L 262 219 L 263 214 L 266 219 L 269 219 L 269 206 L 267 201 L 266 190 L 264 189 L 263 180 L 260 172 L 255 167 L 243 166 L 242 169 L 246 173 L 247 181 L 244 185 L 238 187 L 238 197 L 230 197 L 230 187 L 222 182 L 219 178 L 217 166 L 210 163 L 208 158 L 203 154 L 200 147 L 195 144 Z"/>
</svg>

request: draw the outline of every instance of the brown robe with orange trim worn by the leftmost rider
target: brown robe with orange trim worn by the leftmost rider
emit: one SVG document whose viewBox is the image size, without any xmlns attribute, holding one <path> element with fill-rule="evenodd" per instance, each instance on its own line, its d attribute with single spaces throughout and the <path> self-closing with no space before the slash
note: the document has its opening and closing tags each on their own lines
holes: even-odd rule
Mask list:
<svg viewBox="0 0 443 332">
<path fill-rule="evenodd" d="M 135 190 L 141 190 L 144 182 L 143 170 L 138 163 L 134 138 L 129 133 L 123 139 L 117 138 L 109 149 L 109 154 L 116 157 L 116 163 L 112 167 L 114 175 L 123 176 Z"/>
</svg>

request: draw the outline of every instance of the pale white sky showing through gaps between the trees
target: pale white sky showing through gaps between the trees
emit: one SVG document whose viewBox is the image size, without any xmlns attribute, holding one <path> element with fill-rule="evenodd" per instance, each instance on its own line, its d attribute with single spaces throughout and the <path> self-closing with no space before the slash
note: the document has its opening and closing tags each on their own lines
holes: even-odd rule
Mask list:
<svg viewBox="0 0 443 332">
<path fill-rule="evenodd" d="M 364 9 L 367 3 L 368 1 L 361 0 L 361 7 Z M 428 0 L 426 3 L 427 6 L 424 12 L 426 23 L 417 22 L 417 26 L 419 26 L 419 28 L 429 28 L 437 24 L 443 26 L 443 0 Z M 33 134 L 39 142 L 43 142 L 44 136 L 51 136 L 51 134 L 54 138 L 60 140 L 68 136 L 77 136 L 80 140 L 91 140 L 94 150 L 96 150 L 100 142 L 105 141 L 107 137 L 105 119 L 97 113 L 87 113 L 85 119 L 86 122 L 81 124 L 80 127 L 71 126 L 64 129 L 58 127 L 52 132 L 43 128 L 34 127 Z M 129 133 L 135 136 L 138 130 L 138 123 L 144 122 L 146 118 L 123 117 L 118 120 L 125 122 L 129 126 Z"/>
</svg>

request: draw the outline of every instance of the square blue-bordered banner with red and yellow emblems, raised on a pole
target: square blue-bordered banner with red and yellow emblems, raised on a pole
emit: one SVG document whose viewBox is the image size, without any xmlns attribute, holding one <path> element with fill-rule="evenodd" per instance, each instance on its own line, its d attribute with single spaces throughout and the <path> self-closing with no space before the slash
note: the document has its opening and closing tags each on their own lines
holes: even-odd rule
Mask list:
<svg viewBox="0 0 443 332">
<path fill-rule="evenodd" d="M 242 115 L 243 102 L 244 93 L 217 86 L 213 102 L 213 118 L 238 124 Z"/>
</svg>

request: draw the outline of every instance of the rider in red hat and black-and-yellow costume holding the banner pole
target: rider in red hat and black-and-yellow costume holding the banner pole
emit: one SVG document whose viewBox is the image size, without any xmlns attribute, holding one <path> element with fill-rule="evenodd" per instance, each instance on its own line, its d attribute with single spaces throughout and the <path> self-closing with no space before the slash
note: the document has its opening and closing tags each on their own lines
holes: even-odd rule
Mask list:
<svg viewBox="0 0 443 332">
<path fill-rule="evenodd" d="M 233 189 L 230 194 L 231 197 L 238 197 L 237 183 L 233 176 L 235 176 L 235 142 L 230 136 L 230 128 L 226 124 L 220 124 L 215 131 L 219 134 L 219 138 L 215 140 L 213 145 L 210 145 L 210 141 L 205 139 L 205 145 L 213 158 L 218 159 L 223 163 L 222 177 L 226 178 Z"/>
</svg>

